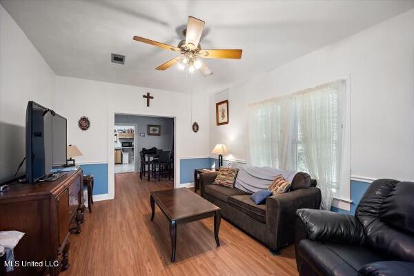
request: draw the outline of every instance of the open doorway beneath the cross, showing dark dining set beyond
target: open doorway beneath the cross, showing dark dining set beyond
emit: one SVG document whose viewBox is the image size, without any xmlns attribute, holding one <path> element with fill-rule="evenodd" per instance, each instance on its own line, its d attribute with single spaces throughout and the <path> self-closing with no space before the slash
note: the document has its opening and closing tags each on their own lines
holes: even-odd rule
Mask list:
<svg viewBox="0 0 414 276">
<path fill-rule="evenodd" d="M 114 123 L 115 174 L 134 172 L 140 181 L 174 186 L 174 118 L 115 113 Z"/>
</svg>

